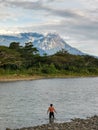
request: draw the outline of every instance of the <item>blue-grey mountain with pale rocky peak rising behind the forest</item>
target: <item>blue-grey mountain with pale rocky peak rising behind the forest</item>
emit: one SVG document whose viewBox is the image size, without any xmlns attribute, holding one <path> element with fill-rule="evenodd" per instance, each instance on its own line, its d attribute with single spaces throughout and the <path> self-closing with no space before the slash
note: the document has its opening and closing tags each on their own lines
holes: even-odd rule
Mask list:
<svg viewBox="0 0 98 130">
<path fill-rule="evenodd" d="M 44 53 L 52 55 L 62 49 L 70 54 L 84 55 L 84 53 L 78 49 L 68 45 L 58 34 L 20 33 L 16 36 L 0 35 L 0 45 L 9 46 L 11 42 L 19 42 L 22 45 L 27 42 L 32 42 L 34 47 L 39 50 L 40 55 Z"/>
</svg>

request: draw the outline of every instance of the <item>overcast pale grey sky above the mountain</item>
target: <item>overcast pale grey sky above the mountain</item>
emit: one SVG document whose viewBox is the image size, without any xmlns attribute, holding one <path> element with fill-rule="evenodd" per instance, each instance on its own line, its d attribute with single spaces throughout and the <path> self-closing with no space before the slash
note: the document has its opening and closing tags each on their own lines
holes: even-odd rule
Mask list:
<svg viewBox="0 0 98 130">
<path fill-rule="evenodd" d="M 98 56 L 98 0 L 0 0 L 0 34 L 58 33 Z"/>
</svg>

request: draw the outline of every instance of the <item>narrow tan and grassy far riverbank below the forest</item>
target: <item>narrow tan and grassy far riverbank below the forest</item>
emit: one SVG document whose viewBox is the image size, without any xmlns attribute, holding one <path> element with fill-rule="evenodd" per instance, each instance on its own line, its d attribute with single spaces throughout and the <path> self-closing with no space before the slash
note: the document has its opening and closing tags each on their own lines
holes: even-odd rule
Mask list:
<svg viewBox="0 0 98 130">
<path fill-rule="evenodd" d="M 0 76 L 0 82 L 26 81 L 48 78 L 80 78 L 80 77 L 98 77 L 96 75 L 8 75 Z"/>
</svg>

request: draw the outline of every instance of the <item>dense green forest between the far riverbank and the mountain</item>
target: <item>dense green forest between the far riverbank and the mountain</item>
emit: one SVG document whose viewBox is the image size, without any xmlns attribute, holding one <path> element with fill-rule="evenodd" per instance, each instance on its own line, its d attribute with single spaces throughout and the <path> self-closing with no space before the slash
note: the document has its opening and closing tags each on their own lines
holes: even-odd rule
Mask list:
<svg viewBox="0 0 98 130">
<path fill-rule="evenodd" d="M 65 50 L 40 56 L 31 42 L 25 46 L 12 42 L 8 47 L 0 46 L 2 75 L 97 76 L 98 59 L 89 55 L 72 55 Z"/>
</svg>

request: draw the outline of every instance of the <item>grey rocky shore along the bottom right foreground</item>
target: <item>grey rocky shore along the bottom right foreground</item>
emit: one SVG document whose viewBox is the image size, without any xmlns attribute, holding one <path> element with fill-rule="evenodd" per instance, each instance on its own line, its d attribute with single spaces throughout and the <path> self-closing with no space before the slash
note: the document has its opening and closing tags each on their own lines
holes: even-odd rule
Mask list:
<svg viewBox="0 0 98 130">
<path fill-rule="evenodd" d="M 6 128 L 6 130 L 98 130 L 98 116 L 95 115 L 87 119 L 76 118 L 70 122 L 43 124 L 29 128 Z"/>
</svg>

